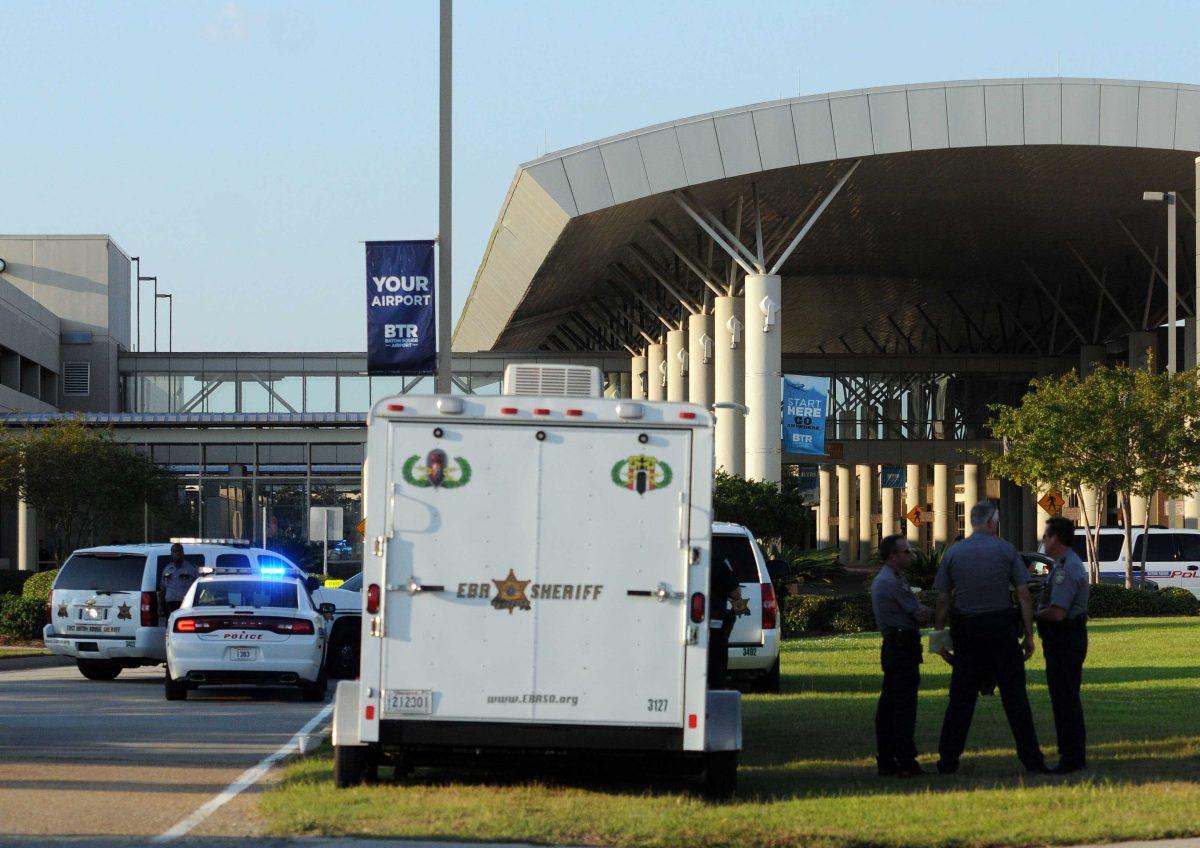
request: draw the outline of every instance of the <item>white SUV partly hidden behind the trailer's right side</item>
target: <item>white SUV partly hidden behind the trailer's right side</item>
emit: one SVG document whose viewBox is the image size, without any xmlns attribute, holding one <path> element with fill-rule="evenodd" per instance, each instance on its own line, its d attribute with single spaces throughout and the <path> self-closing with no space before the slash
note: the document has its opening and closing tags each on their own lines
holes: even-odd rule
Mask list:
<svg viewBox="0 0 1200 848">
<path fill-rule="evenodd" d="M 730 678 L 745 681 L 751 691 L 778 693 L 779 605 L 767 559 L 746 528 L 714 522 L 713 561 L 721 558 L 728 560 L 742 584 L 744 601 L 736 608 L 730 633 Z"/>
</svg>

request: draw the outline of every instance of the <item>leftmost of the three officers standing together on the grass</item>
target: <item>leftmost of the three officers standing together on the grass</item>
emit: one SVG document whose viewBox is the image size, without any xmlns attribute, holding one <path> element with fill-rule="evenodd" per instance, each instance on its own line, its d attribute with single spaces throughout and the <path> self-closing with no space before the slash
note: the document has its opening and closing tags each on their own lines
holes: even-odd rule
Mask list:
<svg viewBox="0 0 1200 848">
<path fill-rule="evenodd" d="M 929 624 L 934 611 L 912 594 L 905 571 L 912 564 L 912 549 L 904 536 L 887 536 L 880 542 L 883 567 L 871 583 L 875 624 L 883 635 L 880 664 L 883 690 L 875 710 L 875 751 L 880 776 L 911 777 L 925 770 L 917 764 L 917 688 L 920 686 L 920 625 Z"/>
</svg>

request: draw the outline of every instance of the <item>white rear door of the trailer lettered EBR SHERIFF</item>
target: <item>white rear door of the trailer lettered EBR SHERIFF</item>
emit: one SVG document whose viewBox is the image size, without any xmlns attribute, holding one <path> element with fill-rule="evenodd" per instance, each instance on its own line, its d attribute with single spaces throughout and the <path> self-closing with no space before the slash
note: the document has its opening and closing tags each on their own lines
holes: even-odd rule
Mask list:
<svg viewBox="0 0 1200 848">
<path fill-rule="evenodd" d="M 691 433 L 390 426 L 383 716 L 678 727 Z"/>
</svg>

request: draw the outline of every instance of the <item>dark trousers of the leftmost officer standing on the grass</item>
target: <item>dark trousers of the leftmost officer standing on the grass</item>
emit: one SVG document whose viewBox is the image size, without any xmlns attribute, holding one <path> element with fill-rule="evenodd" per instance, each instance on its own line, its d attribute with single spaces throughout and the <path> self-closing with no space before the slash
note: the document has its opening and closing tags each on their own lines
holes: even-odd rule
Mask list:
<svg viewBox="0 0 1200 848">
<path fill-rule="evenodd" d="M 883 691 L 875 710 L 875 750 L 881 769 L 917 762 L 917 688 L 920 686 L 920 633 L 890 630 L 880 649 Z"/>
</svg>

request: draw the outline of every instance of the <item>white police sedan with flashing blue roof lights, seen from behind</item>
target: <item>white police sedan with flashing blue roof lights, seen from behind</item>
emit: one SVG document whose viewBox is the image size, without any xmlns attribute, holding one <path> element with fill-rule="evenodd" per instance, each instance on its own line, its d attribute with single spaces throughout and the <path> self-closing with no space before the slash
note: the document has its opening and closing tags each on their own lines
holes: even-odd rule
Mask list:
<svg viewBox="0 0 1200 848">
<path fill-rule="evenodd" d="M 325 697 L 334 605 L 280 565 L 203 569 L 167 626 L 167 700 L 198 686 L 299 686 Z"/>
</svg>

